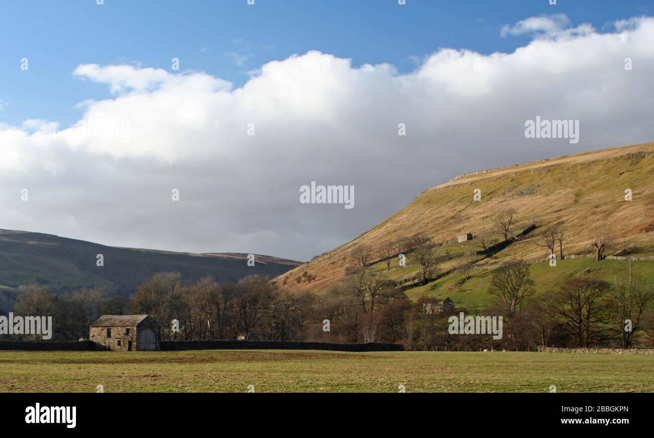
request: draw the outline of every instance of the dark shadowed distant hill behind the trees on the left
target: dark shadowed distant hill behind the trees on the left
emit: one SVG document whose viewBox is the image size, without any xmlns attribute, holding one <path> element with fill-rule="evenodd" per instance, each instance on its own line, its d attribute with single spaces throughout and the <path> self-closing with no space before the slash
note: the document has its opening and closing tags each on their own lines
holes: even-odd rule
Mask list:
<svg viewBox="0 0 654 438">
<path fill-rule="evenodd" d="M 97 254 L 103 254 L 104 267 L 96 265 Z M 234 252 L 191 254 L 117 248 L 50 234 L 0 229 L 0 308 L 13 301 L 16 288 L 21 285 L 42 284 L 53 292 L 95 286 L 105 287 L 111 294 L 129 295 L 159 271 L 179 271 L 184 278 L 211 275 L 220 283 L 233 283 L 250 274 L 274 277 L 299 264 L 255 254 L 255 265 L 249 267 L 247 254 Z"/>
</svg>

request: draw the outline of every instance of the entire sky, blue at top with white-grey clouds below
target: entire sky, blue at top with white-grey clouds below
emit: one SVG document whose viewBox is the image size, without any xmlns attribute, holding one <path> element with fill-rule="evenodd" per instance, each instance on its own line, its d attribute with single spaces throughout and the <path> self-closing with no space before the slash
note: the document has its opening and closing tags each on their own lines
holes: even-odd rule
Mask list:
<svg viewBox="0 0 654 438">
<path fill-rule="evenodd" d="M 309 260 L 461 173 L 653 139 L 651 1 L 247 3 L 1 0 L 0 228 Z"/>
</svg>

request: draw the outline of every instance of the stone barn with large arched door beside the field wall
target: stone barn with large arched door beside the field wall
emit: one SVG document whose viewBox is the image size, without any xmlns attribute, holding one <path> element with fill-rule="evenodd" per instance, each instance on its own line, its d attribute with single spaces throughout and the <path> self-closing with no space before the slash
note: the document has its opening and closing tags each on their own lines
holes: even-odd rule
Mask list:
<svg viewBox="0 0 654 438">
<path fill-rule="evenodd" d="M 89 339 L 114 351 L 156 351 L 161 329 L 148 315 L 102 315 L 91 324 Z"/>
</svg>

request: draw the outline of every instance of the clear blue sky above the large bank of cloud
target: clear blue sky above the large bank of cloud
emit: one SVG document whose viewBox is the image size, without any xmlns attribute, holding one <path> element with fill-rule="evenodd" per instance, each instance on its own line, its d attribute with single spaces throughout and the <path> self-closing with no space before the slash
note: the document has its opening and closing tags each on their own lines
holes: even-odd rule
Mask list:
<svg viewBox="0 0 654 438">
<path fill-rule="evenodd" d="M 27 118 L 74 124 L 84 99 L 110 97 L 102 84 L 73 77 L 77 65 L 138 63 L 196 69 L 247 81 L 267 61 L 309 50 L 411 71 L 440 47 L 512 52 L 528 35 L 500 29 L 529 16 L 566 14 L 572 25 L 653 14 L 651 1 L 547 0 L 95 0 L 0 1 L 0 122 Z M 417 57 L 417 58 L 416 58 Z M 29 59 L 29 71 L 20 59 Z"/>
</svg>

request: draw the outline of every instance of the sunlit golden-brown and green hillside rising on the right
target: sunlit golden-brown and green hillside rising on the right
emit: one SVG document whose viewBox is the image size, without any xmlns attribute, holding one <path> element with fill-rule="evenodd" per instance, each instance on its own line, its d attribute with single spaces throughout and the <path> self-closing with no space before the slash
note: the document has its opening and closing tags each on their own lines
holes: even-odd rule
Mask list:
<svg viewBox="0 0 654 438">
<path fill-rule="evenodd" d="M 318 256 L 277 280 L 285 288 L 324 293 L 353 264 L 353 250 L 371 248 L 373 260 L 380 260 L 385 244 L 424 232 L 436 246 L 439 256 L 438 280 L 407 288 L 411 299 L 421 295 L 451 296 L 459 305 L 484 305 L 492 269 L 502 261 L 523 259 L 536 263 L 532 269 L 540 288 L 558 284 L 565 276 L 591 272 L 612 280 L 628 269 L 630 257 L 641 274 L 654 275 L 654 143 L 636 144 L 563 156 L 551 160 L 508 165 L 497 169 L 461 175 L 422 192 L 411 204 L 396 212 L 353 241 Z M 481 200 L 473 201 L 474 190 Z M 625 200 L 625 190 L 632 200 Z M 494 218 L 500 211 L 513 209 L 515 223 L 510 235 L 519 240 L 501 244 L 494 231 Z M 543 231 L 562 222 L 564 253 L 556 269 L 549 267 L 549 251 L 543 248 Z M 534 224 L 535 227 L 531 227 Z M 531 227 L 531 228 L 530 228 Z M 458 243 L 459 234 L 472 233 L 475 239 Z M 481 254 L 479 237 L 500 243 L 492 254 Z M 606 243 L 604 256 L 594 262 L 596 239 Z M 472 280 L 462 284 L 462 275 L 452 271 L 456 256 L 479 252 Z M 481 254 L 481 255 L 480 255 Z M 585 257 L 588 258 L 585 258 Z M 596 264 L 596 265 L 595 265 Z M 586 268 L 591 266 L 588 271 Z M 415 277 L 418 266 L 407 253 L 407 266 L 391 271 L 383 261 L 372 264 L 379 275 L 398 282 Z M 634 269 L 636 265 L 634 264 Z M 304 273 L 307 274 L 304 274 Z M 540 277 L 538 277 L 540 275 Z M 302 277 L 304 276 L 304 277 Z M 305 277 L 312 281 L 307 281 Z M 297 282 L 301 278 L 300 282 Z M 654 280 L 654 278 L 651 278 Z"/>
</svg>

